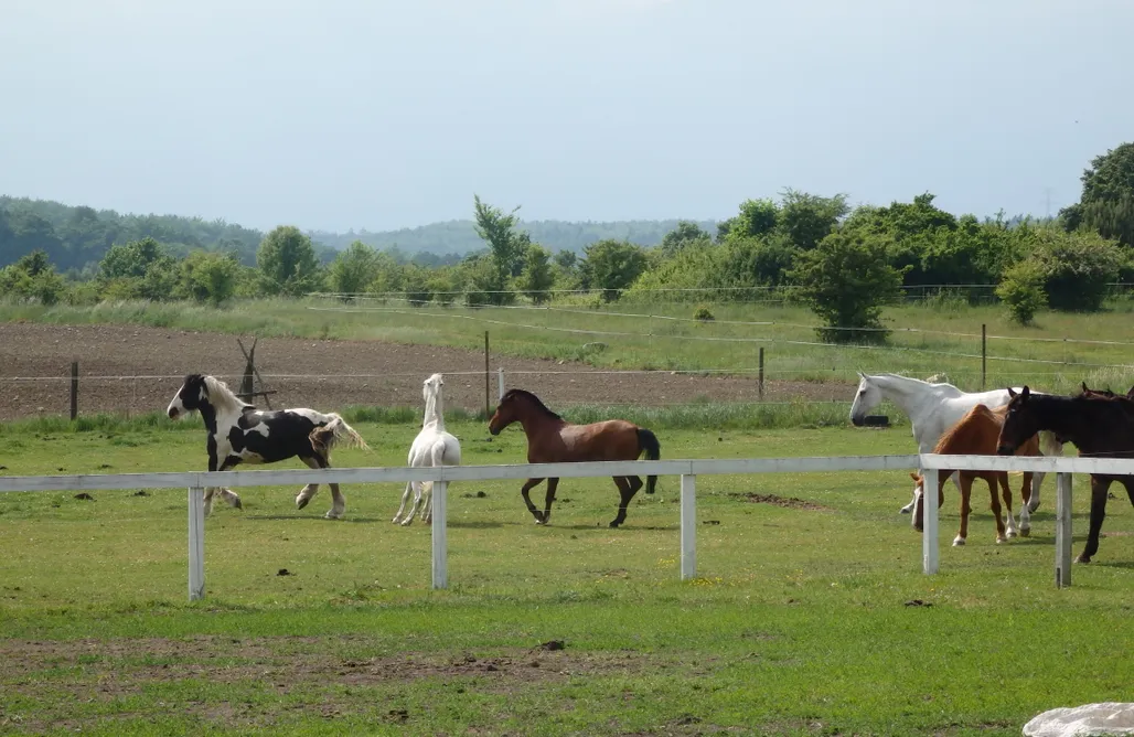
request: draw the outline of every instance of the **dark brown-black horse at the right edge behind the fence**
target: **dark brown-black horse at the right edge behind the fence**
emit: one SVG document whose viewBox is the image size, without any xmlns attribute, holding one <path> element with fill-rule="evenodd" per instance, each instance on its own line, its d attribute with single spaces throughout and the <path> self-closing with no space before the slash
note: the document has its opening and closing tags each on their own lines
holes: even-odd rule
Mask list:
<svg viewBox="0 0 1134 737">
<path fill-rule="evenodd" d="M 1078 448 L 1080 456 L 1134 458 L 1134 403 L 1126 397 L 1083 393 L 1076 397 L 1038 395 L 1024 387 L 1008 390 L 1012 401 L 1005 415 L 997 452 L 1010 456 L 1021 442 L 1041 430 L 1050 430 Z M 1091 474 L 1091 524 L 1076 562 L 1089 564 L 1099 552 L 1099 533 L 1107 516 L 1107 491 L 1117 481 L 1134 505 L 1134 475 Z"/>
</svg>

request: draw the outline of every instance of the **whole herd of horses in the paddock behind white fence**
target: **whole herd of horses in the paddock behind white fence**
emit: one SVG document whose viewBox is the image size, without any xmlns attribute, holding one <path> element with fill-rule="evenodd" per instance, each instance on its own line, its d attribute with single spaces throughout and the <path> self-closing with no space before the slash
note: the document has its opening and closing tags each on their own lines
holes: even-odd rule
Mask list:
<svg viewBox="0 0 1134 737">
<path fill-rule="evenodd" d="M 850 422 L 861 426 L 866 415 L 881 401 L 897 405 L 909 418 L 919 452 L 941 455 L 1063 455 L 1070 442 L 1081 456 L 1134 458 L 1134 388 L 1126 395 L 1091 390 L 1056 396 L 1033 392 L 1029 387 L 965 392 L 950 383 L 921 381 L 897 374 L 860 373 L 861 381 L 850 407 Z M 433 374 L 422 384 L 425 413 L 421 431 L 409 449 L 413 467 L 455 466 L 460 464 L 460 442 L 446 431 L 442 405 L 445 381 Z M 307 408 L 262 410 L 237 397 L 214 376 L 189 374 L 169 404 L 167 414 L 178 418 L 197 412 L 208 430 L 209 471 L 228 471 L 242 463 L 276 463 L 299 458 L 312 468 L 329 468 L 331 449 L 339 444 L 366 448 L 366 442 L 336 413 Z M 657 460 L 661 447 L 657 435 L 625 420 L 573 424 L 549 409 L 535 395 L 523 389 L 507 391 L 489 420 L 489 432 L 499 434 L 519 423 L 527 438 L 527 461 L 532 464 L 591 460 Z M 1021 488 L 1019 519 L 1014 517 L 1007 472 L 938 472 L 938 506 L 945 500 L 943 484 L 950 477 L 960 491 L 960 528 L 954 545 L 965 544 L 971 512 L 973 482 L 982 478 L 989 486 L 996 518 L 997 542 L 1017 534 L 1027 536 L 1031 512 L 1040 505 L 1042 473 L 1024 473 Z M 900 509 L 909 512 L 912 525 L 922 530 L 923 482 L 921 469 L 912 473 L 913 499 Z M 530 492 L 544 478 L 528 478 L 521 488 L 524 503 L 536 524 L 551 520 L 558 477 L 547 478 L 543 509 L 532 503 Z M 615 476 L 620 499 L 610 527 L 626 522 L 634 495 L 643 488 L 640 476 Z M 648 476 L 645 492 L 654 493 L 657 476 Z M 1090 562 L 1099 549 L 1099 534 L 1106 516 L 1110 484 L 1119 482 L 1134 505 L 1134 475 L 1091 475 L 1091 522 L 1086 545 L 1076 558 Z M 339 519 L 346 501 L 338 484 L 331 488 L 329 519 Z M 319 491 L 319 484 L 305 485 L 296 497 L 303 509 Z M 1000 492 L 998 498 L 997 492 Z M 411 493 L 413 502 L 409 503 Z M 205 514 L 211 514 L 214 495 L 240 508 L 240 498 L 229 489 L 205 490 Z M 1000 500 L 1004 501 L 1004 514 Z M 408 505 L 408 509 L 407 509 Z M 395 524 L 408 525 L 420 517 L 432 519 L 432 484 L 409 482 L 401 495 Z"/>
</svg>

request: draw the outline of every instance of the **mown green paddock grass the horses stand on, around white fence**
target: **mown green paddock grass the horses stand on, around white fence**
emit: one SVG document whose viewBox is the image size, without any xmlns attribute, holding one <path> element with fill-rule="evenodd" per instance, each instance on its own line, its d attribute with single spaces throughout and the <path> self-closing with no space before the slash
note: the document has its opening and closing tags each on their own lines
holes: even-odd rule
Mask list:
<svg viewBox="0 0 1134 737">
<path fill-rule="evenodd" d="M 200 430 L 86 427 L 6 426 L 0 473 L 203 465 Z M 404 464 L 411 423 L 357 427 L 375 450 L 338 465 Z M 467 464 L 523 457 L 518 430 L 450 430 Z M 663 458 L 913 446 L 908 429 L 658 434 Z M 680 582 L 674 477 L 618 531 L 609 480 L 564 481 L 550 527 L 515 482 L 454 484 L 441 592 L 429 530 L 389 522 L 400 489 L 345 488 L 339 523 L 322 519 L 327 490 L 296 511 L 297 489 L 246 489 L 243 511 L 218 506 L 206 523 L 193 604 L 184 490 L 0 494 L 0 730 L 1018 735 L 1046 709 L 1128 700 L 1125 499 L 1095 562 L 1059 591 L 1052 482 L 1032 536 L 1005 545 L 974 497 L 962 549 L 947 486 L 936 576 L 897 514 L 908 486 L 899 472 L 699 478 L 700 577 Z M 1075 486 L 1077 552 L 1085 478 Z"/>
</svg>

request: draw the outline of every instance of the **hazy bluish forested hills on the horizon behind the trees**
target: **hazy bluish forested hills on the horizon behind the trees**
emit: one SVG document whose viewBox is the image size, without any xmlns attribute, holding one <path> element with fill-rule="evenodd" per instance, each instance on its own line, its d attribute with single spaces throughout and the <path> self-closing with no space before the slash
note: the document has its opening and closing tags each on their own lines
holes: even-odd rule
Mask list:
<svg viewBox="0 0 1134 737">
<path fill-rule="evenodd" d="M 551 252 L 582 253 L 585 246 L 603 239 L 655 246 L 677 223 L 677 220 L 539 220 L 522 226 L 531 234 L 533 243 Z M 713 221 L 700 221 L 697 225 L 710 232 L 717 228 Z M 0 268 L 33 251 L 43 251 L 61 272 L 93 273 L 112 245 L 147 237 L 163 244 L 177 257 L 185 257 L 195 249 L 217 251 L 234 255 L 244 265 L 254 266 L 256 249 L 265 235 L 225 220 L 121 214 L 113 210 L 65 205 L 50 200 L 0 196 Z M 307 235 L 322 263 L 331 262 L 339 251 L 355 240 L 388 251 L 398 261 L 422 266 L 455 264 L 469 253 L 486 248 L 476 235 L 472 220 L 450 220 L 386 232 L 307 231 Z"/>
</svg>

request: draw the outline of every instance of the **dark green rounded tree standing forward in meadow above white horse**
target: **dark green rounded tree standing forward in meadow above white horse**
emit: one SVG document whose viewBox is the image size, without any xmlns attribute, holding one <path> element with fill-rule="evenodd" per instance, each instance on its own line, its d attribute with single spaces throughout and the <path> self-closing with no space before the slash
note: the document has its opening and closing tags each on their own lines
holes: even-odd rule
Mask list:
<svg viewBox="0 0 1134 737">
<path fill-rule="evenodd" d="M 827 327 L 829 342 L 885 340 L 882 307 L 898 299 L 903 272 L 887 261 L 889 238 L 863 232 L 833 232 L 801 253 L 788 278 Z"/>
</svg>

